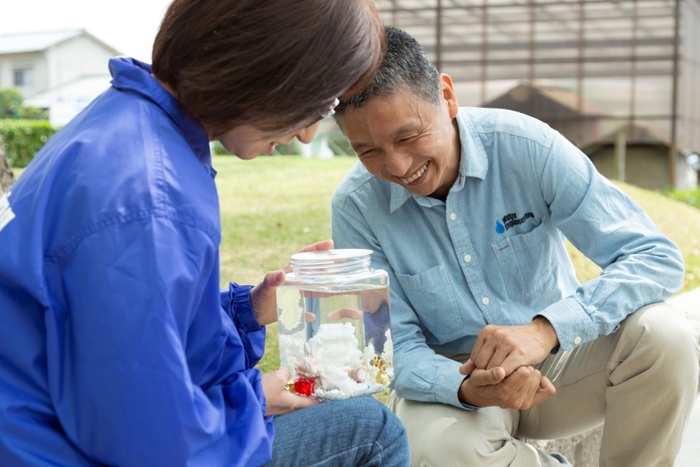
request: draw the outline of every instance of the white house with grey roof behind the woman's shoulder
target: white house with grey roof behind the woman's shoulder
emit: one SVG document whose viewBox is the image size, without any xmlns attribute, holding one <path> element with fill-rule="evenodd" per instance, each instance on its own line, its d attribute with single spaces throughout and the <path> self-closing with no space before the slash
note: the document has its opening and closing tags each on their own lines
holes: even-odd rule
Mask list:
<svg viewBox="0 0 700 467">
<path fill-rule="evenodd" d="M 109 87 L 116 55 L 84 29 L 0 35 L 0 88 L 17 89 L 63 125 Z"/>
</svg>

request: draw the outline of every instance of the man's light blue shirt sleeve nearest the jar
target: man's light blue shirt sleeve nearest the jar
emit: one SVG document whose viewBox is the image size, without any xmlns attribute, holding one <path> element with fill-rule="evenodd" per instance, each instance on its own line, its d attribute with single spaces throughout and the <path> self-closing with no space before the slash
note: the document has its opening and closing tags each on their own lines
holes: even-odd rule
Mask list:
<svg viewBox="0 0 700 467">
<path fill-rule="evenodd" d="M 464 381 L 459 362 L 435 353 L 425 341 L 420 320 L 409 305 L 396 275 L 381 246 L 365 223 L 359 210 L 345 198 L 334 199 L 332 236 L 336 248 L 373 250 L 372 267 L 389 274 L 391 289 L 391 333 L 396 373 L 391 387 L 400 397 L 421 402 L 439 402 L 473 410 L 462 404 L 457 394 Z"/>
</svg>

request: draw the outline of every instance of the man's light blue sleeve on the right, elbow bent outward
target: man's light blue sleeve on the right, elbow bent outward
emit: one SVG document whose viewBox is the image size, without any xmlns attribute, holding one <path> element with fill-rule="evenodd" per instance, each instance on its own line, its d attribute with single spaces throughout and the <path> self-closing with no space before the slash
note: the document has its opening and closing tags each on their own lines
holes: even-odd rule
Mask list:
<svg viewBox="0 0 700 467">
<path fill-rule="evenodd" d="M 615 332 L 630 313 L 679 290 L 678 248 L 573 144 L 557 133 L 537 172 L 553 225 L 602 268 L 598 278 L 539 313 L 562 349 Z"/>
</svg>

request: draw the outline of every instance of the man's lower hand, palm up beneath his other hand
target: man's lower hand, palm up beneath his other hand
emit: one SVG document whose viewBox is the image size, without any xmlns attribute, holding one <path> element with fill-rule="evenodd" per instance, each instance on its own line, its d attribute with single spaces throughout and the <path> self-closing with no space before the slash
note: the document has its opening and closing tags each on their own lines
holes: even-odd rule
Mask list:
<svg viewBox="0 0 700 467">
<path fill-rule="evenodd" d="M 531 366 L 521 366 L 506 377 L 503 368 L 474 369 L 459 387 L 459 400 L 476 407 L 527 410 L 552 397 L 557 390 Z"/>
</svg>

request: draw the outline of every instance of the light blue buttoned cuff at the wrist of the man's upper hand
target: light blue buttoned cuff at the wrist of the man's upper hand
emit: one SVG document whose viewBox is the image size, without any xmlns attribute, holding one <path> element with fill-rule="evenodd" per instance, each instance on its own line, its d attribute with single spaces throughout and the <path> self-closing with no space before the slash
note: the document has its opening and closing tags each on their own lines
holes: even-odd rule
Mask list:
<svg viewBox="0 0 700 467">
<path fill-rule="evenodd" d="M 571 350 L 598 337 L 595 322 L 573 298 L 559 300 L 536 316 L 543 316 L 552 323 L 562 350 Z"/>
</svg>

